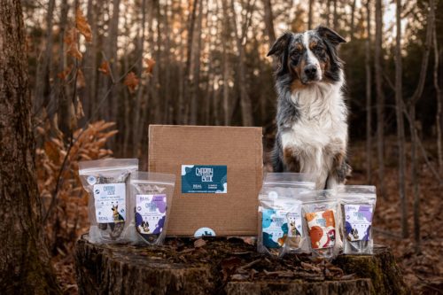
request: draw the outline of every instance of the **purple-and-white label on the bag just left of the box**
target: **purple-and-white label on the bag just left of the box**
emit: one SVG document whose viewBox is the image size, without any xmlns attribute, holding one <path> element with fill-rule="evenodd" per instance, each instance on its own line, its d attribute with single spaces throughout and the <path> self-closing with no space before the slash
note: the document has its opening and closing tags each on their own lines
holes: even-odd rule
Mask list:
<svg viewBox="0 0 443 295">
<path fill-rule="evenodd" d="M 158 235 L 166 220 L 166 195 L 136 195 L 136 229 L 144 235 Z"/>
</svg>

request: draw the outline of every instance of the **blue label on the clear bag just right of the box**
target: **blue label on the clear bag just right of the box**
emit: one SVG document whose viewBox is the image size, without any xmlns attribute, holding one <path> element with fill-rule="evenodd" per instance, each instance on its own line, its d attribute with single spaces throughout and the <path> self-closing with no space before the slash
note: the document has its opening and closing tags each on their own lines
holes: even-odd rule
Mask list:
<svg viewBox="0 0 443 295">
<path fill-rule="evenodd" d="M 287 211 L 263 209 L 261 212 L 261 230 L 263 245 L 268 248 L 280 248 L 288 236 Z"/>
</svg>

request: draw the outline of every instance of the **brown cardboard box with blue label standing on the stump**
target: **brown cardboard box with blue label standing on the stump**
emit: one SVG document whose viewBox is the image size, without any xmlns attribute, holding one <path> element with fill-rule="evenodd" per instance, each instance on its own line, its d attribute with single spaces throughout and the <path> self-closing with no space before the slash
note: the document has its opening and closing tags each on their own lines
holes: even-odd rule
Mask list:
<svg viewBox="0 0 443 295">
<path fill-rule="evenodd" d="M 176 176 L 167 236 L 205 228 L 216 236 L 257 235 L 261 138 L 261 128 L 251 127 L 149 127 L 149 171 Z"/>
</svg>

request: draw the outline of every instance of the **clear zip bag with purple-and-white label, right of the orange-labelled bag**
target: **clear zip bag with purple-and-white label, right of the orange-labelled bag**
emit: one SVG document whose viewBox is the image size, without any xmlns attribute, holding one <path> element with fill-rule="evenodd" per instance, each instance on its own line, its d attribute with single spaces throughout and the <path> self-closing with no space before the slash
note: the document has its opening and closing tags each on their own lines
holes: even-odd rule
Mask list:
<svg viewBox="0 0 443 295">
<path fill-rule="evenodd" d="M 372 219 L 376 208 L 375 186 L 344 185 L 338 187 L 343 225 L 345 254 L 372 254 Z"/>
</svg>

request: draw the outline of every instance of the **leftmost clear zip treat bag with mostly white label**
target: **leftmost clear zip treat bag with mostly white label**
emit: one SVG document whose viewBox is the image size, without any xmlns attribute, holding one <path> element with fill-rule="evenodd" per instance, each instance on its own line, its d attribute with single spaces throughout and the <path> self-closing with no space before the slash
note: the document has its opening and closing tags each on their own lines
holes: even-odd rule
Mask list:
<svg viewBox="0 0 443 295">
<path fill-rule="evenodd" d="M 97 159 L 79 162 L 83 188 L 89 192 L 89 240 L 121 241 L 127 213 L 127 182 L 138 159 Z"/>
</svg>

